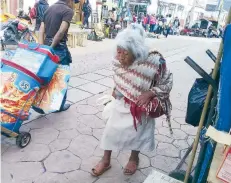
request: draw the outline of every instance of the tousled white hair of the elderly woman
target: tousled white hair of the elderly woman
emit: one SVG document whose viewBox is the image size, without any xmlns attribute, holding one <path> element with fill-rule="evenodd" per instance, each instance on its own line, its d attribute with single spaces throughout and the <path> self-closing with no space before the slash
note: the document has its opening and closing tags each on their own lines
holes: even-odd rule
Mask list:
<svg viewBox="0 0 231 183">
<path fill-rule="evenodd" d="M 141 25 L 131 24 L 116 36 L 116 48 L 120 47 L 132 52 L 135 61 L 144 61 L 148 57 L 149 48 L 145 41 L 145 31 Z"/>
</svg>

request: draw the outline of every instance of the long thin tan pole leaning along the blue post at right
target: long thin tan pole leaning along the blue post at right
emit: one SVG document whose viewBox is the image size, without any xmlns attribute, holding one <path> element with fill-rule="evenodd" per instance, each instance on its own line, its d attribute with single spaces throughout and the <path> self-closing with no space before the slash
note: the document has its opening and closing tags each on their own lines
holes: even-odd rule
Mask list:
<svg viewBox="0 0 231 183">
<path fill-rule="evenodd" d="M 228 14 L 228 17 L 227 17 L 227 20 L 226 20 L 226 25 L 229 24 L 230 22 L 231 22 L 231 8 L 229 9 L 229 14 Z M 212 78 L 214 80 L 216 80 L 216 78 L 217 78 L 217 74 L 218 74 L 218 70 L 219 70 L 219 66 L 220 66 L 220 62 L 221 62 L 221 57 L 222 57 L 222 52 L 223 52 L 223 41 L 221 41 L 221 43 L 220 43 L 219 51 L 218 51 L 218 54 L 217 54 L 217 60 L 216 60 L 215 66 L 214 66 L 213 74 L 212 74 Z M 197 146 L 198 146 L 199 138 L 200 138 L 200 132 L 202 130 L 202 127 L 203 127 L 203 124 L 204 124 L 204 121 L 205 121 L 205 118 L 206 118 L 206 114 L 207 114 L 207 110 L 208 110 L 209 103 L 210 103 L 210 100 L 211 100 L 211 96 L 212 96 L 212 87 L 210 85 L 209 89 L 208 89 L 208 94 L 207 94 L 206 99 L 205 99 L 204 108 L 202 110 L 200 123 L 199 123 L 197 134 L 196 134 L 196 138 L 195 138 L 195 141 L 193 143 L 192 156 L 191 156 L 191 159 L 190 159 L 190 162 L 189 162 L 189 165 L 188 165 L 188 169 L 187 169 L 187 172 L 186 172 L 186 175 L 185 175 L 184 183 L 188 183 L 188 179 L 189 179 L 189 176 L 190 176 L 190 173 L 191 173 L 191 170 L 192 170 L 193 162 L 194 162 L 194 159 L 195 159 L 195 156 L 196 156 Z"/>
</svg>

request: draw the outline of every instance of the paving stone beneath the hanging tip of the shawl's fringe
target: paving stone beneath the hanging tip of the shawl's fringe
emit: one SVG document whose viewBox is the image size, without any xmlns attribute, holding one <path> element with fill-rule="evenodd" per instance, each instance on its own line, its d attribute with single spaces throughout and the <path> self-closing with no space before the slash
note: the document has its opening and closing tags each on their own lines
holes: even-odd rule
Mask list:
<svg viewBox="0 0 231 183">
<path fill-rule="evenodd" d="M 173 129 L 173 135 L 170 134 L 169 128 L 162 127 L 158 129 L 159 134 L 168 136 L 173 139 L 184 140 L 187 138 L 187 134 L 180 129 Z"/>
</svg>

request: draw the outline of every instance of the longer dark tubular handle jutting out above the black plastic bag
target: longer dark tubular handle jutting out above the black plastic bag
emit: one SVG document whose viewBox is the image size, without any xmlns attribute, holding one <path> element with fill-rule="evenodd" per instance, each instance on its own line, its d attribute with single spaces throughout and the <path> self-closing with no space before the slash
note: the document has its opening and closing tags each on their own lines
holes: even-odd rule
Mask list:
<svg viewBox="0 0 231 183">
<path fill-rule="evenodd" d="M 196 62 L 194 62 L 190 57 L 186 57 L 184 61 L 212 86 L 213 91 L 217 91 L 218 87 L 216 81 L 209 74 L 207 74 Z"/>
</svg>

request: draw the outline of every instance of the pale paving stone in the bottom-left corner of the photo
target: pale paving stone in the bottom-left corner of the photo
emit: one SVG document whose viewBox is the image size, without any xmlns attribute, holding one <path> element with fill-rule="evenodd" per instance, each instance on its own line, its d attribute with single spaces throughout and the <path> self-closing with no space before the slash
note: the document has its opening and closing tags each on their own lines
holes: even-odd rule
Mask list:
<svg viewBox="0 0 231 183">
<path fill-rule="evenodd" d="M 2 182 L 22 182 L 32 180 L 44 172 L 40 162 L 17 162 L 7 164 L 2 162 Z"/>
</svg>

